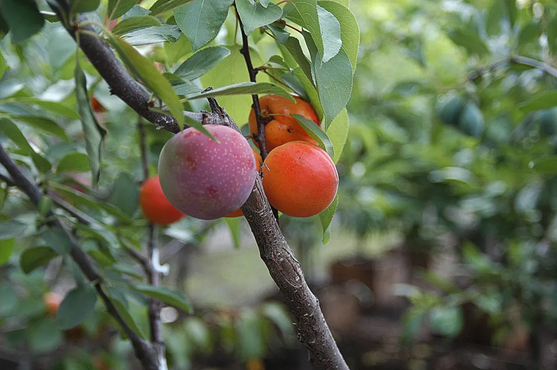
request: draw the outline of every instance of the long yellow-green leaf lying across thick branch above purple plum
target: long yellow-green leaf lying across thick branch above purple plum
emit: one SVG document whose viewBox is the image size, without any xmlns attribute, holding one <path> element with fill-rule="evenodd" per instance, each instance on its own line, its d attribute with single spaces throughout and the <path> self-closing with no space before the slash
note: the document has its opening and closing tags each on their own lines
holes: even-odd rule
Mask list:
<svg viewBox="0 0 557 370">
<path fill-rule="evenodd" d="M 118 37 L 112 37 L 111 42 L 116 50 L 118 50 L 121 60 L 131 70 L 131 72 L 134 73 L 134 75 L 138 77 L 145 86 L 153 91 L 160 98 L 160 100 L 166 103 L 170 113 L 178 122 L 180 129 L 182 129 L 185 121 L 182 103 L 172 89 L 170 82 L 168 82 L 168 80 L 161 75 L 151 61 L 142 56 L 134 49 L 133 46 Z M 195 126 L 196 129 L 202 132 L 206 131 L 202 129 L 201 124 L 199 124 L 199 126 L 199 128 Z"/>
</svg>

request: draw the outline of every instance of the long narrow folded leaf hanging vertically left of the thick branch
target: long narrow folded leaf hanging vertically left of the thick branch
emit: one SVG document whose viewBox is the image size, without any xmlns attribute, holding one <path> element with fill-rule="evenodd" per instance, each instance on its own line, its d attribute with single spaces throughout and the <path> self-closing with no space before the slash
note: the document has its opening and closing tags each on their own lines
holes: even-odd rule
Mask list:
<svg viewBox="0 0 557 370">
<path fill-rule="evenodd" d="M 75 92 L 77 109 L 81 117 L 81 125 L 85 134 L 85 150 L 91 167 L 91 183 L 96 188 L 101 176 L 102 141 L 106 130 L 99 125 L 95 113 L 91 108 L 85 73 L 81 70 L 79 61 L 75 64 Z"/>
</svg>

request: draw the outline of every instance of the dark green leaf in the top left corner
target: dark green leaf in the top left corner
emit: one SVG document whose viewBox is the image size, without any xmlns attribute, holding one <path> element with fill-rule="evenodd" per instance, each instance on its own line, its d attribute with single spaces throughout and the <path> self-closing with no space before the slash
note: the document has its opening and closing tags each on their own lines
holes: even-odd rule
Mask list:
<svg viewBox="0 0 557 370">
<path fill-rule="evenodd" d="M 27 40 L 45 24 L 33 0 L 2 0 L 0 15 L 11 29 L 13 43 Z"/>
</svg>

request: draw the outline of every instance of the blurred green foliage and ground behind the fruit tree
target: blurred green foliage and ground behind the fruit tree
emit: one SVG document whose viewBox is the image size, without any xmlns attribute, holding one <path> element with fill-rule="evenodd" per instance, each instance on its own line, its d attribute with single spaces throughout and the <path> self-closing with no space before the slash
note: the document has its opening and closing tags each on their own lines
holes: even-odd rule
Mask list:
<svg viewBox="0 0 557 370">
<path fill-rule="evenodd" d="M 315 218 L 280 220 L 350 368 L 555 368 L 557 4 L 351 0 L 350 8 L 361 45 L 329 243 Z M 212 43 L 233 42 L 229 16 Z M 183 60 L 173 48 L 187 45 L 180 38 L 145 52 L 172 66 Z M 0 98 L 18 91 L 75 98 L 68 95 L 75 46 L 55 24 L 23 46 L 6 38 L 0 47 L 11 68 Z M 259 64 L 278 53 L 270 38 L 254 48 Z M 221 81 L 225 72 L 202 82 Z M 229 77 L 221 85 L 246 80 Z M 100 114 L 109 131 L 100 188 L 89 189 L 86 174 L 57 180 L 80 182 L 87 194 L 135 215 L 124 229 L 140 240 L 137 118 L 99 78 L 89 82 L 108 110 Z M 242 124 L 249 100 L 219 103 Z M 154 171 L 170 134 L 146 128 Z M 66 126 L 70 135 L 79 130 L 79 122 Z M 80 145 L 46 147 L 40 134 L 25 134 L 51 161 Z M 30 217 L 23 197 L 3 201 L 5 189 L 0 182 L 3 220 Z M 37 243 L 31 229 L 15 247 L 0 244 L 15 248 L 5 260 L 0 252 L 0 368 L 136 368 L 100 305 L 77 339 L 45 315 L 43 294 L 70 289 L 72 269 L 60 273 L 65 260 L 27 275 L 16 268 L 21 250 Z M 110 243 L 110 235 L 97 236 L 91 243 Z M 164 284 L 183 290 L 196 308 L 193 316 L 163 312 L 169 368 L 309 368 L 245 220 L 185 218 L 162 230 L 160 241 L 170 266 Z M 137 274 L 118 256 L 117 273 Z M 144 326 L 141 303 L 132 299 L 129 308 Z"/>
</svg>

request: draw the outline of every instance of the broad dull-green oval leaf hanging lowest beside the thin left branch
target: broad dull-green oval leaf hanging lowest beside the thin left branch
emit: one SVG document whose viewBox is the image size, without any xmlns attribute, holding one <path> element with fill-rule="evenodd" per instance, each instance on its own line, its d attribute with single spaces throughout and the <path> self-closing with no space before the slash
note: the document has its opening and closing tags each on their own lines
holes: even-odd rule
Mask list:
<svg viewBox="0 0 557 370">
<path fill-rule="evenodd" d="M 97 291 L 91 285 L 79 285 L 66 295 L 56 318 L 62 329 L 71 329 L 85 321 L 93 312 L 95 312 L 95 303 L 97 302 Z"/>
</svg>

